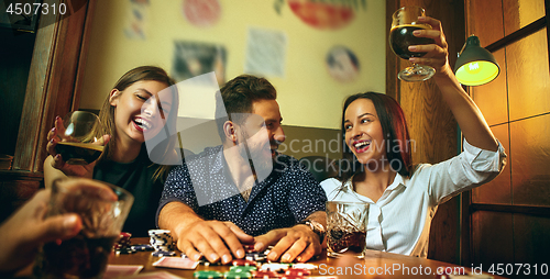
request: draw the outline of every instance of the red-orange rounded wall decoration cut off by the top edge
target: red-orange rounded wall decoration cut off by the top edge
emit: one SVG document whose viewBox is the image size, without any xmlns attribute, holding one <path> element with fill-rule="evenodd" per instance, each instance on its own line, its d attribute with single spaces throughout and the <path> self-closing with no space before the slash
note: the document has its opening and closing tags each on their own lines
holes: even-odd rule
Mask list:
<svg viewBox="0 0 550 279">
<path fill-rule="evenodd" d="M 282 0 L 276 0 L 282 1 Z M 355 10 L 366 8 L 366 0 L 287 0 L 290 10 L 304 23 L 320 30 L 336 30 L 348 25 Z M 276 2 L 277 3 L 277 2 Z M 277 5 L 275 5 L 277 9 Z"/>
</svg>

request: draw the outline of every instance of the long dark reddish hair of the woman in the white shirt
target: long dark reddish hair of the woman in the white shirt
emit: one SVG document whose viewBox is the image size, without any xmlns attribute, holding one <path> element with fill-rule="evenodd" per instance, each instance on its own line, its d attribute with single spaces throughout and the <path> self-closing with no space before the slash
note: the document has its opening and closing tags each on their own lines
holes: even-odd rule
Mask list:
<svg viewBox="0 0 550 279">
<path fill-rule="evenodd" d="M 369 99 L 374 104 L 376 114 L 378 114 L 378 121 L 382 125 L 382 132 L 384 133 L 384 142 L 386 144 L 385 148 L 389 166 L 402 176 L 410 176 L 413 168 L 410 137 L 402 107 L 394 98 L 387 94 L 364 92 L 348 97 L 343 105 L 341 123 L 341 133 L 343 137 L 343 161 L 341 165 L 345 165 L 341 166 L 340 179 L 345 182 L 358 171 L 364 170 L 364 167 L 358 161 L 345 143 L 345 110 L 358 99 Z"/>
</svg>

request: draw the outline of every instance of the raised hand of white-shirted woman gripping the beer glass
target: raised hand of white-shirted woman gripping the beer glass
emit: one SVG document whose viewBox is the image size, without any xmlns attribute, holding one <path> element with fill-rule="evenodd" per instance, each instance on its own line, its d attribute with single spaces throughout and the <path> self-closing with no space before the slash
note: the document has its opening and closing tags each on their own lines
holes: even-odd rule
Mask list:
<svg viewBox="0 0 550 279">
<path fill-rule="evenodd" d="M 411 52 L 426 53 L 422 57 L 409 58 L 409 62 L 431 66 L 436 69 L 436 75 L 448 70 L 452 72 L 449 66 L 449 49 L 441 22 L 429 16 L 418 16 L 418 22 L 430 25 L 431 30 L 416 30 L 413 34 L 417 37 L 433 38 L 436 44 L 409 46 Z"/>
</svg>

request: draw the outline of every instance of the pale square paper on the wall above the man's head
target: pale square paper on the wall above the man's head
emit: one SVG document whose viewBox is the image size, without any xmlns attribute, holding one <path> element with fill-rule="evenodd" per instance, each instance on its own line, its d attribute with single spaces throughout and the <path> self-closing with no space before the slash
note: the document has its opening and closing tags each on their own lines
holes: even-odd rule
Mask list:
<svg viewBox="0 0 550 279">
<path fill-rule="evenodd" d="M 283 77 L 285 74 L 286 34 L 280 31 L 249 29 L 244 72 Z"/>
</svg>

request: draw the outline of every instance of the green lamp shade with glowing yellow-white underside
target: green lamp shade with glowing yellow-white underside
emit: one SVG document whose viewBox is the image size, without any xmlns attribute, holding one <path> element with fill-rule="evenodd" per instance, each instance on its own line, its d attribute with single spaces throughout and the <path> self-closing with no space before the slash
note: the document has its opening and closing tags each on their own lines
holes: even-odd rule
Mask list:
<svg viewBox="0 0 550 279">
<path fill-rule="evenodd" d="M 481 86 L 495 79 L 501 67 L 495 56 L 480 46 L 477 36 L 470 36 L 454 64 L 454 75 L 464 86 Z"/>
</svg>

